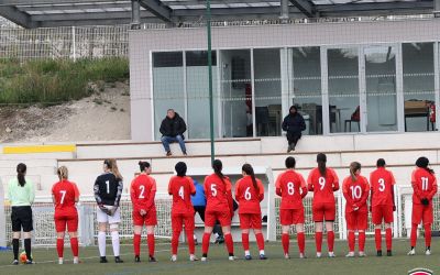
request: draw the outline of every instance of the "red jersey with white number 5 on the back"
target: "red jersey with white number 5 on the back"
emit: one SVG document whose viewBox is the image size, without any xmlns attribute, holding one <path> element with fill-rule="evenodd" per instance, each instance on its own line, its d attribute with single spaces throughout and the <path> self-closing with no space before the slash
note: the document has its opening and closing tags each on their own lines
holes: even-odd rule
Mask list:
<svg viewBox="0 0 440 275">
<path fill-rule="evenodd" d="M 206 211 L 228 211 L 230 212 L 230 202 L 232 202 L 232 184 L 228 177 L 223 180 L 216 174 L 205 178 L 205 194 L 207 198 Z"/>
</svg>

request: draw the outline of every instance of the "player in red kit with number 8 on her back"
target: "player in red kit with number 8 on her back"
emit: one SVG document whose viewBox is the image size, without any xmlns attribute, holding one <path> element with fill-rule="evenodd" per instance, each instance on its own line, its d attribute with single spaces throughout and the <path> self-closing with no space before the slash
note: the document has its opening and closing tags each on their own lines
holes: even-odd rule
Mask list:
<svg viewBox="0 0 440 275">
<path fill-rule="evenodd" d="M 289 258 L 289 230 L 296 227 L 299 257 L 304 258 L 306 238 L 304 234 L 304 205 L 302 199 L 307 196 L 307 185 L 304 177 L 295 172 L 296 161 L 289 156 L 286 158 L 286 170 L 276 179 L 276 195 L 282 197 L 279 206 L 279 219 L 283 230 L 283 250 L 285 258 Z"/>
</svg>

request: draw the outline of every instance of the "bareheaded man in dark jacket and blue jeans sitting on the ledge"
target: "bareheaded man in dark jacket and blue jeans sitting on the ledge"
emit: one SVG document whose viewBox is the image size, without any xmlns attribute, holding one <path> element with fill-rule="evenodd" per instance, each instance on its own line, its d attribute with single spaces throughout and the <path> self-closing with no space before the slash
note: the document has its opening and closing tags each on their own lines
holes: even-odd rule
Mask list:
<svg viewBox="0 0 440 275">
<path fill-rule="evenodd" d="M 169 143 L 178 142 L 180 145 L 182 153 L 186 155 L 185 147 L 185 138 L 184 133 L 186 132 L 186 124 L 183 118 L 178 116 L 173 109 L 169 109 L 166 113 L 165 119 L 161 123 L 162 133 L 162 144 L 164 145 L 165 152 L 167 156 L 172 155 L 172 151 L 169 150 Z"/>
</svg>

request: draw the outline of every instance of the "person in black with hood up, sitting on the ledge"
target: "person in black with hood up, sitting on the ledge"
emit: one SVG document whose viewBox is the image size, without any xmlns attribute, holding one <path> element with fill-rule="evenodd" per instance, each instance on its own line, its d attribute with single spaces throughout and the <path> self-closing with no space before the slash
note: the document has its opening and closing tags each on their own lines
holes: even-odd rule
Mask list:
<svg viewBox="0 0 440 275">
<path fill-rule="evenodd" d="M 297 107 L 292 106 L 289 114 L 287 114 L 283 121 L 283 131 L 287 132 L 287 153 L 295 151 L 296 143 L 301 139 L 301 132 L 304 130 L 306 130 L 306 122 L 302 116 L 298 113 Z"/>
</svg>

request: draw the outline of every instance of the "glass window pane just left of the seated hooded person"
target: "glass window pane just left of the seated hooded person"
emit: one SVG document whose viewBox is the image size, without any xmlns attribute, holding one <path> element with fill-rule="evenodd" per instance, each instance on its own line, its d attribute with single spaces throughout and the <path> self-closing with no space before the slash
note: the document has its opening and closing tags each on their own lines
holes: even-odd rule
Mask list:
<svg viewBox="0 0 440 275">
<path fill-rule="evenodd" d="M 257 136 L 282 134 L 279 48 L 254 50 L 255 127 Z"/>
</svg>

